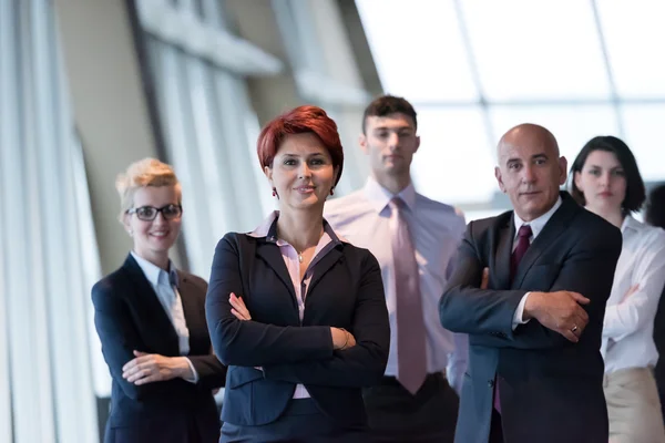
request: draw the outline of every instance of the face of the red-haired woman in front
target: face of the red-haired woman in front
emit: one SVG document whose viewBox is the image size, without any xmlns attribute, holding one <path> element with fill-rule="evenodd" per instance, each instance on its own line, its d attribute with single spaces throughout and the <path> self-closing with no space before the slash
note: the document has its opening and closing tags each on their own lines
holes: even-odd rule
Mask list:
<svg viewBox="0 0 665 443">
<path fill-rule="evenodd" d="M 288 135 L 279 146 L 273 167 L 265 174 L 277 190 L 279 209 L 320 206 L 335 184 L 337 171 L 330 153 L 314 133 Z"/>
</svg>

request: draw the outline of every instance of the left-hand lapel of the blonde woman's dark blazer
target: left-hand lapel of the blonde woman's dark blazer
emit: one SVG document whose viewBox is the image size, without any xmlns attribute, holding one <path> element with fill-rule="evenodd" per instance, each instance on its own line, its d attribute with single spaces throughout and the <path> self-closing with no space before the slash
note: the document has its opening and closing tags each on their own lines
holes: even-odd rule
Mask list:
<svg viewBox="0 0 665 443">
<path fill-rule="evenodd" d="M 165 350 L 162 352 L 166 356 L 178 356 L 180 346 L 173 323 L 157 299 L 157 295 L 150 281 L 145 278 L 143 270 L 131 254 L 127 256 L 123 267 L 127 271 L 130 279 L 133 282 L 133 287 L 136 288 L 134 298 L 142 305 L 142 310 L 150 313 L 150 316 L 146 316 L 145 321 L 152 323 L 151 329 L 164 331 L 163 338 Z"/>
</svg>

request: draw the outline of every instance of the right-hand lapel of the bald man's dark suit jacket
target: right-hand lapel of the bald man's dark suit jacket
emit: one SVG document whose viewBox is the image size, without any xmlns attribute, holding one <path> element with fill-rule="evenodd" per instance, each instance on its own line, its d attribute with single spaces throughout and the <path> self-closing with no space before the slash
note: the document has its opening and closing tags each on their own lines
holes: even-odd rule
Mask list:
<svg viewBox="0 0 665 443">
<path fill-rule="evenodd" d="M 513 289 L 519 288 L 522 285 L 529 269 L 531 269 L 538 258 L 556 241 L 559 236 L 563 234 L 567 228 L 571 218 L 575 215 L 575 210 L 580 208 L 567 193 L 561 193 L 561 207 L 552 214 L 552 218 L 548 220 L 543 230 L 535 237 L 522 257 L 522 260 L 518 266 L 515 278 L 513 279 Z"/>
</svg>

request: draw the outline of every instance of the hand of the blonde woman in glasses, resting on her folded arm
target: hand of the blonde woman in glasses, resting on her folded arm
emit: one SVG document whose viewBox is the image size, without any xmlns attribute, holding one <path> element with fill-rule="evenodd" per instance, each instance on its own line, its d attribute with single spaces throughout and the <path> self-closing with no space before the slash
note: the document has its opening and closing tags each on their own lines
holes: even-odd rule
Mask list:
<svg viewBox="0 0 665 443">
<path fill-rule="evenodd" d="M 122 367 L 122 378 L 136 385 L 176 378 L 193 379 L 192 368 L 184 357 L 134 351 L 136 357 Z"/>
</svg>

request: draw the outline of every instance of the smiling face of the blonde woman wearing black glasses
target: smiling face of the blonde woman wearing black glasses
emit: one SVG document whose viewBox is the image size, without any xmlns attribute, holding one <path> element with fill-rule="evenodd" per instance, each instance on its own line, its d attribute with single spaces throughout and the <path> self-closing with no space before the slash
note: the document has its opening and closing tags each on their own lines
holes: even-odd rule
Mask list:
<svg viewBox="0 0 665 443">
<path fill-rule="evenodd" d="M 181 230 L 180 189 L 176 186 L 144 186 L 134 193 L 133 214 L 125 214 L 124 225 L 134 239 L 134 253 L 158 262 L 173 246 Z M 154 219 L 149 220 L 155 210 Z M 142 219 L 143 218 L 143 219 Z"/>
</svg>

